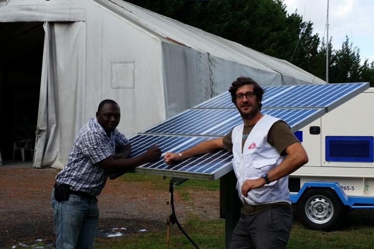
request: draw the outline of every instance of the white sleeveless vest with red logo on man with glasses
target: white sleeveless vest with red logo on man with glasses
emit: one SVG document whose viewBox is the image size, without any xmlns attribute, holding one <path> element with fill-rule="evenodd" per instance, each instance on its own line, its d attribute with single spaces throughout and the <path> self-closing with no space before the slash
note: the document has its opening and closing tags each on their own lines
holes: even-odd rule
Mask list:
<svg viewBox="0 0 374 249">
<path fill-rule="evenodd" d="M 246 179 L 257 179 L 269 172 L 270 169 L 283 162 L 285 157 L 267 143 L 267 133 L 271 126 L 279 119 L 264 115 L 253 127 L 245 141 L 242 150 L 242 134 L 244 124 L 235 126 L 232 131 L 234 159 L 232 164 L 238 179 L 237 189 L 239 198 L 248 204 L 287 202 L 291 204 L 288 190 L 288 176 L 265 184 L 264 187 L 251 189 L 248 196 L 242 195 L 242 184 Z"/>
</svg>

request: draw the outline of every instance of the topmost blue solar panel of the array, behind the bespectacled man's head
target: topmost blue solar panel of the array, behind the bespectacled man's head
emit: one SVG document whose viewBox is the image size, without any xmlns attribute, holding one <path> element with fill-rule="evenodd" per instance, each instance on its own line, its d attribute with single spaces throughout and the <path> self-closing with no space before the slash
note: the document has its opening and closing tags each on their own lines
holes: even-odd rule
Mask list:
<svg viewBox="0 0 374 249">
<path fill-rule="evenodd" d="M 368 83 L 265 86 L 263 108 L 327 108 L 345 96 L 355 96 L 368 88 Z M 235 108 L 225 92 L 195 108 Z"/>
</svg>

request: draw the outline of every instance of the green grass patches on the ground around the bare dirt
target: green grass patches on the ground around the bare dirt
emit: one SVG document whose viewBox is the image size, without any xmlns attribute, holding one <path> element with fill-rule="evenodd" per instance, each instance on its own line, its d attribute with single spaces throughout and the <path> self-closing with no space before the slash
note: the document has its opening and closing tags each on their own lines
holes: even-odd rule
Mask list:
<svg viewBox="0 0 374 249">
<path fill-rule="evenodd" d="M 142 174 L 125 174 L 120 178 L 125 182 L 148 181 L 152 188 L 167 189 L 170 178 Z M 220 181 L 190 179 L 175 187 L 183 200 L 192 201 L 191 190 L 218 191 Z M 201 249 L 224 249 L 224 220 L 217 218 L 206 221 L 198 216 L 190 216 L 181 224 L 187 234 Z M 164 232 L 131 234 L 121 238 L 100 238 L 96 241 L 97 249 L 165 249 L 166 228 Z M 169 248 L 192 249 L 193 245 L 179 231 L 176 225 L 171 227 Z M 354 221 L 352 225 L 338 231 L 323 232 L 305 228 L 297 220 L 293 222 L 287 249 L 373 249 L 374 229 L 370 222 Z"/>
</svg>

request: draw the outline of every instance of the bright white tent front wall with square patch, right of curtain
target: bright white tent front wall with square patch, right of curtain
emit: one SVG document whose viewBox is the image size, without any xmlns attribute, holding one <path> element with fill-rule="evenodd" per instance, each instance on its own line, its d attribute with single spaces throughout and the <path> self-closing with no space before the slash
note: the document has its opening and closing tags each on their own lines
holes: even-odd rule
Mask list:
<svg viewBox="0 0 374 249">
<path fill-rule="evenodd" d="M 83 3 L 89 20 L 86 22 L 86 96 L 90 97 L 85 99 L 85 119 L 95 115 L 101 100 L 113 99 L 122 114 L 117 128 L 128 137 L 164 120 L 160 39 L 100 4 L 91 0 Z M 123 73 L 120 75 L 123 84 L 113 79 L 116 73 Z"/>
</svg>

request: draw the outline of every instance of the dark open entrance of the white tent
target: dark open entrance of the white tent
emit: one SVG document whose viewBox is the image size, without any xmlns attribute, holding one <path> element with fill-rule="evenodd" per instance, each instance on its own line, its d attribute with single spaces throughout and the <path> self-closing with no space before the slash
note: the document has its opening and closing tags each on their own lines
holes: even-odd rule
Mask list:
<svg viewBox="0 0 374 249">
<path fill-rule="evenodd" d="M 43 22 L 0 22 L 0 153 L 3 165 L 13 161 L 13 152 L 14 160 L 22 161 L 22 150 L 18 149 L 22 147 L 24 160 L 32 160 L 32 150 L 28 151 L 24 141 L 35 140 L 43 46 Z"/>
</svg>

